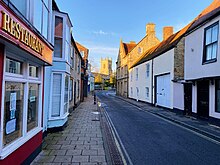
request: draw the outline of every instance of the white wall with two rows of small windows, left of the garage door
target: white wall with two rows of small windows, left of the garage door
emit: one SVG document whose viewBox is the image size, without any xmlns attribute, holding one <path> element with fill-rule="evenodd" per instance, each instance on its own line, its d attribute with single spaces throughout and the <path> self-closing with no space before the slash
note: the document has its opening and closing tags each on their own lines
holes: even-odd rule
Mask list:
<svg viewBox="0 0 220 165">
<path fill-rule="evenodd" d="M 149 77 L 146 73 L 146 65 L 149 64 L 150 71 Z M 136 80 L 136 68 L 138 68 L 138 80 Z M 131 78 L 132 74 L 132 78 Z M 152 61 L 147 61 L 129 70 L 129 97 L 135 100 L 141 100 L 151 103 L 152 100 Z M 131 94 L 131 87 L 133 89 L 133 95 Z M 139 95 L 137 97 L 136 87 L 139 88 Z M 146 87 L 149 88 L 149 97 L 146 97 Z"/>
</svg>

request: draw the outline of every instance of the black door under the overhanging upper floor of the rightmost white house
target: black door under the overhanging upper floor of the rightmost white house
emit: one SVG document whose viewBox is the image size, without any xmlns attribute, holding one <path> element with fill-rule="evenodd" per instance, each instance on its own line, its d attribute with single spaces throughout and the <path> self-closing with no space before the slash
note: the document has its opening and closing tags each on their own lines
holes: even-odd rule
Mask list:
<svg viewBox="0 0 220 165">
<path fill-rule="evenodd" d="M 198 116 L 207 118 L 209 116 L 209 81 L 197 83 L 197 98 Z"/>
</svg>

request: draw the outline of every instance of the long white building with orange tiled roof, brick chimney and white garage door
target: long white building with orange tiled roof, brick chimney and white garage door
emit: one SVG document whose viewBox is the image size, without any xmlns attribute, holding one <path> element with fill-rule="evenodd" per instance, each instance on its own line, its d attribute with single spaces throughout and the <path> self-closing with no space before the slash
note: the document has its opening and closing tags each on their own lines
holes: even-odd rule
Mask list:
<svg viewBox="0 0 220 165">
<path fill-rule="evenodd" d="M 165 27 L 172 32 L 171 27 Z M 184 110 L 183 34 L 164 35 L 164 40 L 144 52 L 129 70 L 129 97 L 157 106 Z M 175 99 L 174 99 L 175 98 Z"/>
</svg>

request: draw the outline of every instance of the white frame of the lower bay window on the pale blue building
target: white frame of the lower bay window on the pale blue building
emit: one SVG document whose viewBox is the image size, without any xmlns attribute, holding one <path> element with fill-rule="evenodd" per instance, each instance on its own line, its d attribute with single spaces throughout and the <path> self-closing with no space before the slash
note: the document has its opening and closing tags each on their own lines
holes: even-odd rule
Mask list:
<svg viewBox="0 0 220 165">
<path fill-rule="evenodd" d="M 70 76 L 69 74 L 67 74 L 61 70 L 52 71 L 52 73 L 51 73 L 49 120 L 65 119 L 69 115 L 69 111 L 67 111 L 67 113 L 64 113 L 64 92 L 61 92 L 60 116 L 56 116 L 56 117 L 52 116 L 52 98 L 53 98 L 52 94 L 53 94 L 53 75 L 54 74 L 61 74 L 61 91 L 65 90 L 65 75 Z M 69 87 L 68 87 L 68 89 L 69 89 Z M 69 94 L 68 94 L 68 100 L 69 100 Z M 67 107 L 69 109 L 69 101 L 68 101 Z"/>
</svg>

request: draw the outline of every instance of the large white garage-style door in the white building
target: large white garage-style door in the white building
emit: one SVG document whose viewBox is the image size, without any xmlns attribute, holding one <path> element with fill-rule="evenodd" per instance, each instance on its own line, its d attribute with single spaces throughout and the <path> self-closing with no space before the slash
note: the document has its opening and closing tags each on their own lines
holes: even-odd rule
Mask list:
<svg viewBox="0 0 220 165">
<path fill-rule="evenodd" d="M 157 77 L 156 105 L 171 108 L 171 80 L 170 74 Z"/>
</svg>

